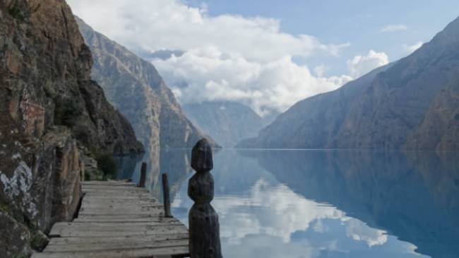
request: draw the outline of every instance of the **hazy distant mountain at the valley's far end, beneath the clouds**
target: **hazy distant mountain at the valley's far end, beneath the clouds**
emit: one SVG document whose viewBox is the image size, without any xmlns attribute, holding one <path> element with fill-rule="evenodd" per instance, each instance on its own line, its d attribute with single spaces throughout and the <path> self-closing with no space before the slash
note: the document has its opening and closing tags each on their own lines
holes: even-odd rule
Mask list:
<svg viewBox="0 0 459 258">
<path fill-rule="evenodd" d="M 238 102 L 201 102 L 183 108 L 193 124 L 224 147 L 256 136 L 266 125 L 254 110 Z"/>
</svg>

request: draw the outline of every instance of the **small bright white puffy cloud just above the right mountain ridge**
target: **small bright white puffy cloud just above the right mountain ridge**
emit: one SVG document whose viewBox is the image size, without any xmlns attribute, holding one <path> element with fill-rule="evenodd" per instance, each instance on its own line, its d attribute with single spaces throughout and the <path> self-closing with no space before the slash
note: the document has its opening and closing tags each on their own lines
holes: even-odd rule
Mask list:
<svg viewBox="0 0 459 258">
<path fill-rule="evenodd" d="M 347 60 L 347 68 L 352 78 L 359 78 L 369 71 L 389 63 L 389 57 L 384 52 L 370 50 L 366 56 L 356 56 Z"/>
</svg>

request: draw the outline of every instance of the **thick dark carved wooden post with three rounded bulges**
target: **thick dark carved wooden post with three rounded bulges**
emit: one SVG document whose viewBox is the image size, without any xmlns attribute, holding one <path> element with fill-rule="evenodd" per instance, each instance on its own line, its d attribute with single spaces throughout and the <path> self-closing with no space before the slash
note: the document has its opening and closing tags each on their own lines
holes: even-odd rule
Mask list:
<svg viewBox="0 0 459 258">
<path fill-rule="evenodd" d="M 210 205 L 214 182 L 212 147 L 201 139 L 191 151 L 191 168 L 196 174 L 188 182 L 188 196 L 195 202 L 189 213 L 189 250 L 191 258 L 222 258 L 218 214 Z"/>
</svg>

